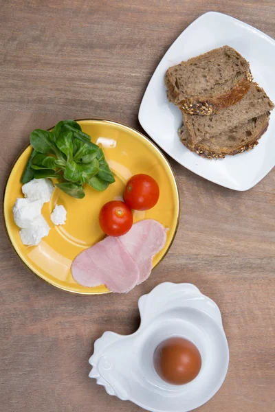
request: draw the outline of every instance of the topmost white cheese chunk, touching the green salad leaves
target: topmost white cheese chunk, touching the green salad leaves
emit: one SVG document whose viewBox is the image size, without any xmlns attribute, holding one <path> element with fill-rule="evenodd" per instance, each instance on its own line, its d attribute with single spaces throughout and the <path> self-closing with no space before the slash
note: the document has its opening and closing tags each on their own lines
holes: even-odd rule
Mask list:
<svg viewBox="0 0 275 412">
<path fill-rule="evenodd" d="M 49 179 L 32 179 L 22 186 L 22 192 L 31 201 L 40 200 L 42 203 L 50 202 L 54 185 Z"/>
</svg>

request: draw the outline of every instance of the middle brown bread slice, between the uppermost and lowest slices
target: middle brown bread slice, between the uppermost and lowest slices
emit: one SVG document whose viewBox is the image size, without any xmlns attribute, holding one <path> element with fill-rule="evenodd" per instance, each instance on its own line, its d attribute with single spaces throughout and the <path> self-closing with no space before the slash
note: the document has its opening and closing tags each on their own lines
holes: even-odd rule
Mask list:
<svg viewBox="0 0 275 412">
<path fill-rule="evenodd" d="M 248 122 L 253 117 L 259 117 L 274 108 L 265 91 L 256 83 L 252 83 L 250 90 L 240 102 L 229 106 L 217 114 L 210 116 L 192 116 L 183 114 L 184 126 L 190 135 L 190 146 L 195 146 L 201 139 L 230 130 L 238 124 Z"/>
</svg>

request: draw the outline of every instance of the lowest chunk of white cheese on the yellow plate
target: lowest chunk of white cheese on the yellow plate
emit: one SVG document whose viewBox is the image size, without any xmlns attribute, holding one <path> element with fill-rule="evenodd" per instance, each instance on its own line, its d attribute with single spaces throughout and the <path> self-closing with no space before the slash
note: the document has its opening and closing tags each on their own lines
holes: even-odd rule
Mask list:
<svg viewBox="0 0 275 412">
<path fill-rule="evenodd" d="M 40 214 L 32 220 L 29 227 L 21 229 L 19 231 L 23 244 L 30 246 L 37 246 L 41 242 L 41 239 L 49 234 L 50 227 L 46 220 Z"/>
</svg>

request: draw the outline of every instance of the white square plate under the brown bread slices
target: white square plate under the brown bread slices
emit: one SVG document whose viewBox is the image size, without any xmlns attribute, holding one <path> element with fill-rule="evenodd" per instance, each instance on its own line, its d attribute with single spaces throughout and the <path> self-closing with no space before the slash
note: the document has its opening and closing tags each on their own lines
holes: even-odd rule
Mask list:
<svg viewBox="0 0 275 412">
<path fill-rule="evenodd" d="M 170 46 L 153 74 L 140 105 L 139 120 L 149 136 L 185 168 L 233 190 L 248 190 L 275 165 L 275 109 L 259 145 L 217 161 L 190 152 L 177 135 L 181 112 L 166 97 L 164 75 L 182 60 L 229 45 L 250 62 L 254 81 L 275 102 L 275 41 L 254 27 L 225 14 L 208 12 L 195 20 Z"/>
</svg>

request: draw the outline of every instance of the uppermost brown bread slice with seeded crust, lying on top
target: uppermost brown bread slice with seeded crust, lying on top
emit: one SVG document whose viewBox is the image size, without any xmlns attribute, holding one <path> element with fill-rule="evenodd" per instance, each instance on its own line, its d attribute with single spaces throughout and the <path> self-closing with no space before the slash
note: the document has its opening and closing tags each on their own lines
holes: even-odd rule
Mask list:
<svg viewBox="0 0 275 412">
<path fill-rule="evenodd" d="M 211 115 L 248 93 L 247 60 L 229 46 L 190 58 L 166 71 L 168 100 L 190 115 Z"/>
</svg>

